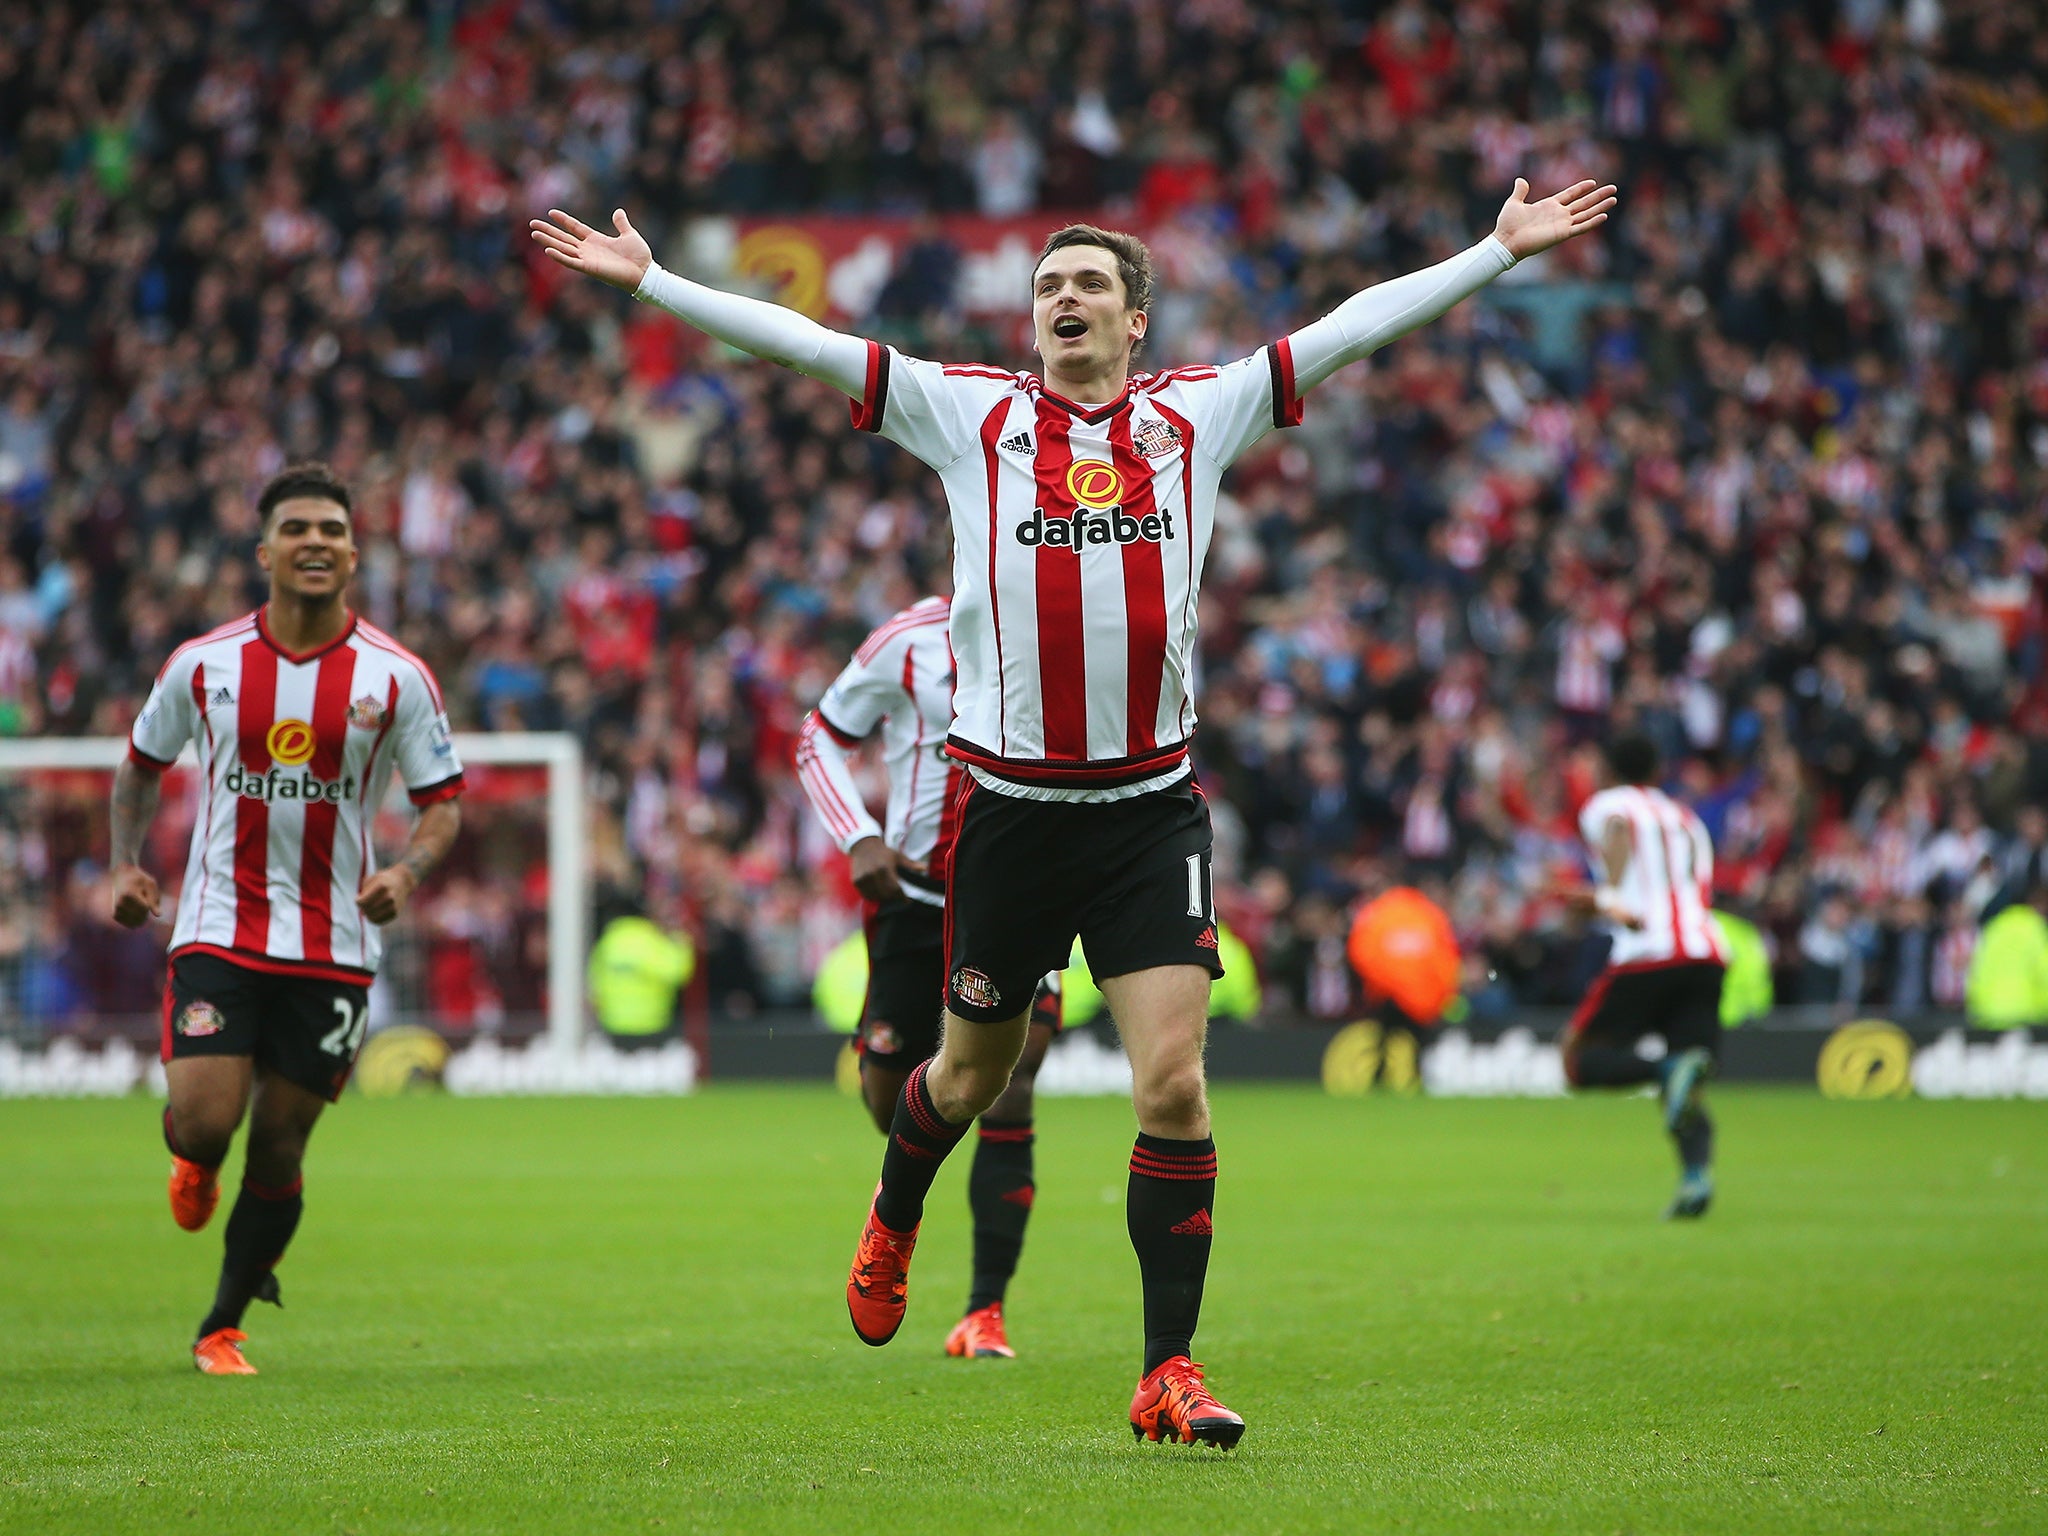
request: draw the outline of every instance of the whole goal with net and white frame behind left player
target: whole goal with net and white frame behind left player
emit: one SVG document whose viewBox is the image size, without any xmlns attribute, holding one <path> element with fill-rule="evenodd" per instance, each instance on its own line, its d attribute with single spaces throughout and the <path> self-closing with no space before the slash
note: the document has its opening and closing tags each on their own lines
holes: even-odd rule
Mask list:
<svg viewBox="0 0 2048 1536">
<path fill-rule="evenodd" d="M 582 748 L 559 731 L 463 733 L 455 743 L 467 774 L 463 831 L 385 928 L 371 1028 L 424 1026 L 502 1049 L 547 1036 L 551 1055 L 569 1059 L 584 1036 L 590 952 Z M 125 737 L 0 741 L 0 1051 L 16 1073 L 29 1069 L 25 1053 L 43 1071 L 70 1063 L 82 1075 L 72 1092 L 94 1092 L 94 1071 L 119 1075 L 100 1057 L 119 1061 L 121 1044 L 154 1059 L 164 946 L 199 811 L 188 748 L 166 774 L 143 852 L 164 885 L 164 915 L 119 928 L 109 918 L 106 801 L 125 754 Z M 403 848 L 414 815 L 393 780 L 373 823 L 379 864 Z"/>
</svg>

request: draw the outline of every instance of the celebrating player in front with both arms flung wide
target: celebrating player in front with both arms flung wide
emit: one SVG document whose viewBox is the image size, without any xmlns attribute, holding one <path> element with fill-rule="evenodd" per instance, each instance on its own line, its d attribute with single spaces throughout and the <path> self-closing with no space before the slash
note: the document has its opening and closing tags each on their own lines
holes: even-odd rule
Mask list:
<svg viewBox="0 0 2048 1536">
<path fill-rule="evenodd" d="M 559 264 L 655 303 L 852 397 L 854 426 L 938 471 L 952 510 L 948 756 L 967 768 L 946 881 L 938 1057 L 895 1106 L 881 1186 L 846 1286 L 854 1331 L 903 1321 L 924 1196 L 1010 1083 L 1036 981 L 1075 934 L 1130 1057 L 1139 1120 L 1126 1214 L 1145 1296 L 1130 1427 L 1233 1446 L 1243 1419 L 1190 1358 L 1214 1225 L 1217 1145 L 1202 1081 L 1217 961 L 1208 807 L 1188 766 L 1196 608 L 1225 469 L 1292 426 L 1346 362 L 1442 315 L 1524 256 L 1604 223 L 1614 188 L 1540 203 L 1516 182 L 1493 233 L 1346 299 L 1225 367 L 1133 373 L 1151 258 L 1133 236 L 1069 225 L 1032 268 L 1042 377 L 952 367 L 780 305 L 662 270 L 625 211 L 610 233 L 532 221 Z"/>
</svg>

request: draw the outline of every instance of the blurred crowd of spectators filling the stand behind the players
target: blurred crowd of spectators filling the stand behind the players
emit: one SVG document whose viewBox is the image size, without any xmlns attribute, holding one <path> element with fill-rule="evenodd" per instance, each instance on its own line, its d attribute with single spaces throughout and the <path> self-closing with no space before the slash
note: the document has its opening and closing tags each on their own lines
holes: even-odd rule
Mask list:
<svg viewBox="0 0 2048 1536">
<path fill-rule="evenodd" d="M 326 457 L 457 727 L 580 733 L 608 897 L 696 932 L 713 1008 L 797 1004 L 854 897 L 795 727 L 942 590 L 938 481 L 522 221 L 1087 211 L 1153 240 L 1165 365 L 1599 176 L 1599 238 L 1227 483 L 1219 901 L 1280 1012 L 1354 1006 L 1386 879 L 1442 895 L 1475 1006 L 1571 1001 L 1573 815 L 1634 725 L 1782 999 L 1954 1004 L 2048 846 L 2044 82 L 2003 0 L 0 0 L 0 733 L 123 733 L 260 600 L 252 489 Z M 950 270 L 852 324 L 1022 367 Z M 0 967 L 90 907 L 88 823 L 27 795 Z M 539 1008 L 545 874 L 496 823 L 422 897 L 457 1022 Z"/>
</svg>

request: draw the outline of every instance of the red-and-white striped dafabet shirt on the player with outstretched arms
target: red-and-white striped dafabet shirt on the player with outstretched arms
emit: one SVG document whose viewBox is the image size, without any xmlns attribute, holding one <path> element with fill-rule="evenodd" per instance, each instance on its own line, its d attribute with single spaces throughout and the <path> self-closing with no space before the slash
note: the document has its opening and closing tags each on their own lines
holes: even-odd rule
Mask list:
<svg viewBox="0 0 2048 1536">
<path fill-rule="evenodd" d="M 932 465 L 952 508 L 946 752 L 1028 799 L 1122 799 L 1182 778 L 1217 487 L 1296 422 L 1286 340 L 1227 367 L 1133 375 L 1106 406 L 868 342 L 854 424 Z"/>
</svg>

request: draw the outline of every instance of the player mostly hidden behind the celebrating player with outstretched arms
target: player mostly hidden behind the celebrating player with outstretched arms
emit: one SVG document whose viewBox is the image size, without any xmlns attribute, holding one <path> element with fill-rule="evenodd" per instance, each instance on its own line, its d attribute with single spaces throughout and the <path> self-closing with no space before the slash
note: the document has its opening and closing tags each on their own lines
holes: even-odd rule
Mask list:
<svg viewBox="0 0 2048 1536">
<path fill-rule="evenodd" d="M 944 754 L 952 723 L 946 598 L 913 602 L 877 629 L 834 678 L 797 735 L 797 778 L 852 862 L 868 903 L 868 997 L 860 1010 L 860 1094 L 883 1135 L 903 1079 L 938 1051 L 946 987 L 946 856 L 961 766 Z M 874 823 L 846 752 L 883 733 L 889 825 Z M 1032 1196 L 1032 1081 L 1059 1032 L 1059 973 L 1038 985 L 1024 1055 L 981 1114 L 967 1202 L 975 1217 L 975 1278 L 946 1354 L 1014 1358 L 1004 1294 L 1024 1251 Z"/>
</svg>

